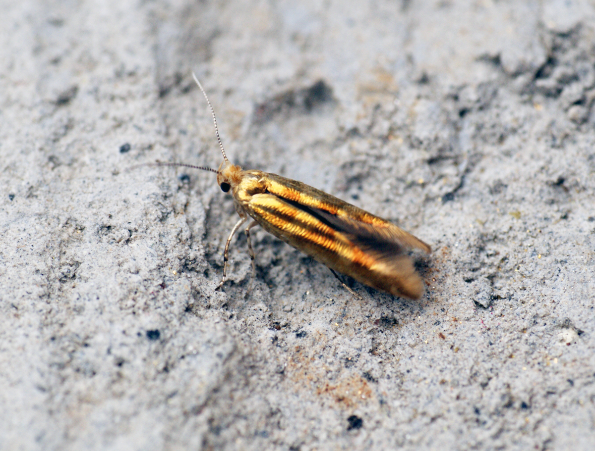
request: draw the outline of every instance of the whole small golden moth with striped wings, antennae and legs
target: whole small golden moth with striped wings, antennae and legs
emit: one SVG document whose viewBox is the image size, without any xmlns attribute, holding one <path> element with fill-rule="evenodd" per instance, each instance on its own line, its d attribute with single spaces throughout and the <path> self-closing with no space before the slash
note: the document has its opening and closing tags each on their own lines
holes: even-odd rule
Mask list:
<svg viewBox="0 0 595 451">
<path fill-rule="evenodd" d="M 201 83 L 192 74 L 209 106 L 215 135 L 223 155 L 219 169 L 183 163 L 159 166 L 186 166 L 217 174 L 217 184 L 224 193 L 231 191 L 240 220 L 231 229 L 223 254 L 223 279 L 226 281 L 228 251 L 233 235 L 248 222 L 246 237 L 255 273 L 250 229 L 259 225 L 297 250 L 325 264 L 349 292 L 359 298 L 337 276 L 337 272 L 358 282 L 395 296 L 419 299 L 424 292 L 421 277 L 415 271 L 408 251 L 415 248 L 430 254 L 425 242 L 396 225 L 359 209 L 324 191 L 280 175 L 252 169 L 244 171 L 227 159 L 217 119 Z"/>
</svg>

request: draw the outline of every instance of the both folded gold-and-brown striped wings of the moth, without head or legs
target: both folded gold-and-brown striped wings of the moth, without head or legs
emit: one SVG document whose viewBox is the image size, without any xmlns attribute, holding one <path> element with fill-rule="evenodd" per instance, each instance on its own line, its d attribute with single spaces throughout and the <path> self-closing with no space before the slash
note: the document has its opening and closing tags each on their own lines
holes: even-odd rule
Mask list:
<svg viewBox="0 0 595 451">
<path fill-rule="evenodd" d="M 423 293 L 406 251 L 430 247 L 380 217 L 275 174 L 244 207 L 266 231 L 337 272 L 393 295 Z"/>
</svg>

